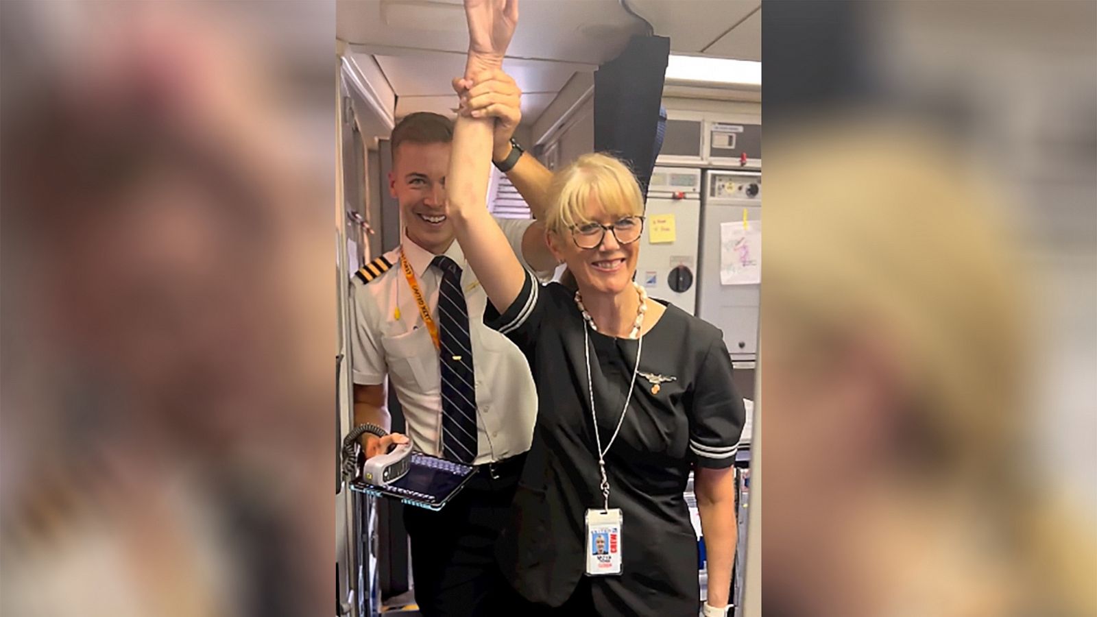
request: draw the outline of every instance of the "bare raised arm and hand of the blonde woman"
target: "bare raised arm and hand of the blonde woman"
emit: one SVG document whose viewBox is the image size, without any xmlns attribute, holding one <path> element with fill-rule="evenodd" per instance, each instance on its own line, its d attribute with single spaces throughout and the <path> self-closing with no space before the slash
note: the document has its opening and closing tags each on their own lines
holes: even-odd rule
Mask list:
<svg viewBox="0 0 1097 617">
<path fill-rule="evenodd" d="M 465 16 L 470 40 L 465 79 L 501 68 L 518 22 L 518 0 L 465 0 Z M 446 197 L 461 249 L 491 304 L 501 313 L 521 292 L 525 272 L 486 207 L 493 126 L 490 117 L 457 115 Z"/>
</svg>

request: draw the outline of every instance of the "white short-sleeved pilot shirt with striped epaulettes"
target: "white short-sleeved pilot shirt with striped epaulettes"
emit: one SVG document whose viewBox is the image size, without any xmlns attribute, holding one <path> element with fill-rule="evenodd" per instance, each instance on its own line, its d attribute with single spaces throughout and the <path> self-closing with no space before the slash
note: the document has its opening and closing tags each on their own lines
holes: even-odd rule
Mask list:
<svg viewBox="0 0 1097 617">
<path fill-rule="evenodd" d="M 522 266 L 522 235 L 531 220 L 496 218 Z M 438 324 L 442 277 L 431 267 L 434 255 L 408 239 L 402 249 L 415 271 L 431 318 Z M 375 385 L 388 377 L 404 410 L 407 434 L 417 450 L 442 456 L 442 377 L 438 350 L 419 315 L 415 295 L 400 268 L 400 248 L 385 254 L 392 267 L 369 283 L 353 278 L 355 327 L 351 338 L 354 383 Z M 487 294 L 454 242 L 444 254 L 462 268 L 461 287 L 468 306 L 468 334 L 476 375 L 477 453 L 474 464 L 499 461 L 530 449 L 538 394 L 525 356 L 506 336 L 484 325 Z M 396 308 L 399 307 L 399 318 Z"/>
</svg>

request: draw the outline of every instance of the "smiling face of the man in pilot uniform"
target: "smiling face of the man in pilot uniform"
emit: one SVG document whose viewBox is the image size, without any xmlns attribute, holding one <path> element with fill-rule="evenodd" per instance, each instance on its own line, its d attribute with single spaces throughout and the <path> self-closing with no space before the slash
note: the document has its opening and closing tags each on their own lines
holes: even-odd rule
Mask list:
<svg viewBox="0 0 1097 617">
<path fill-rule="evenodd" d="M 397 146 L 388 175 L 388 191 L 400 204 L 408 238 L 433 254 L 453 243 L 453 225 L 445 216 L 449 166 L 450 144 L 405 142 Z"/>
</svg>

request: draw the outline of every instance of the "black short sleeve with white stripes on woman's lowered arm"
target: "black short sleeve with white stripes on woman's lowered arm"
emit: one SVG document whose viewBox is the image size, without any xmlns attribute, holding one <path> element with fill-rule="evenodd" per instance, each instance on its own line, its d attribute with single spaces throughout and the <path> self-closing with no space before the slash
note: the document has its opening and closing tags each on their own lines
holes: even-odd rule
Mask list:
<svg viewBox="0 0 1097 617">
<path fill-rule="evenodd" d="M 712 341 L 698 367 L 687 414 L 689 449 L 697 464 L 713 469 L 734 464 L 746 411 L 732 384 L 732 358 L 723 337 Z"/>
</svg>

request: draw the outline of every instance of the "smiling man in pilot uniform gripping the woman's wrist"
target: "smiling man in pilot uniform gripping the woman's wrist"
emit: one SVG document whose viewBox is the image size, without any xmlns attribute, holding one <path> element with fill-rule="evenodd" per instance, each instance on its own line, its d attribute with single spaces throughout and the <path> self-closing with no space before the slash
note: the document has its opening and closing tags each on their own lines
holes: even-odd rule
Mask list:
<svg viewBox="0 0 1097 617">
<path fill-rule="evenodd" d="M 501 71 L 478 83 L 488 94 L 479 104 L 498 119 L 496 165 L 512 172 L 519 190 L 538 189 L 523 191 L 536 215 L 551 173 L 511 139 L 520 119 L 518 90 Z M 399 248 L 373 260 L 352 283 L 354 420 L 388 429 L 387 377 L 417 450 L 479 468 L 442 512 L 407 507 L 404 518 L 422 614 L 498 615 L 512 592 L 493 546 L 530 448 L 536 393 L 518 347 L 484 325 L 487 296 L 446 221 L 452 135 L 452 122 L 432 113 L 408 115 L 393 130 L 388 181 L 404 234 Z M 556 266 L 543 225 L 498 222 L 531 270 Z M 366 434 L 363 447 L 370 457 L 406 439 Z"/>
</svg>

